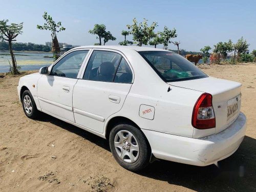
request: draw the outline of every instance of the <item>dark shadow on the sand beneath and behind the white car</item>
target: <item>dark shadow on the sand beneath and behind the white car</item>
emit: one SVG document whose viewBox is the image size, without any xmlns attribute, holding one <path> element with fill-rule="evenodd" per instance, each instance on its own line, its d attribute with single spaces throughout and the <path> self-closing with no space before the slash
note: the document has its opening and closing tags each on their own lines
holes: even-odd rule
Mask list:
<svg viewBox="0 0 256 192">
<path fill-rule="evenodd" d="M 110 152 L 108 141 L 90 132 L 42 114 L 39 121 L 50 122 L 87 139 Z M 166 146 L 165 146 L 166 147 Z M 196 191 L 256 191 L 256 139 L 245 136 L 238 151 L 205 167 L 159 160 L 136 174 L 180 185 Z"/>
</svg>

